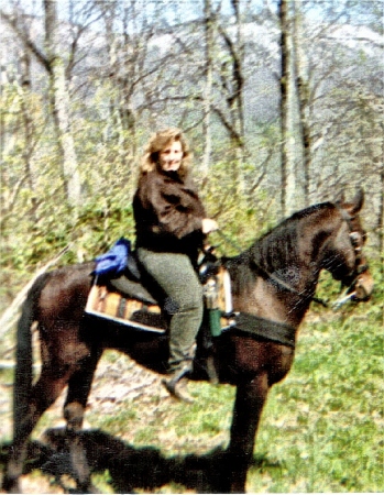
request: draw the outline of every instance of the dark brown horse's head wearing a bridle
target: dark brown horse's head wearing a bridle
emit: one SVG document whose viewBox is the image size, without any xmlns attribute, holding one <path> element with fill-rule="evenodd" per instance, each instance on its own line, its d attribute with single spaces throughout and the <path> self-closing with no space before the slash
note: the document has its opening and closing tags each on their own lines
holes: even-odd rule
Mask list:
<svg viewBox="0 0 384 495">
<path fill-rule="evenodd" d="M 367 299 L 373 290 L 373 278 L 369 271 L 363 246 L 366 232 L 362 228 L 359 212 L 364 204 L 364 191 L 358 191 L 353 201 L 345 202 L 343 197 L 336 204 L 338 219 L 336 228 L 326 243 L 326 256 L 322 267 L 333 278 L 341 280 L 356 300 Z"/>
</svg>

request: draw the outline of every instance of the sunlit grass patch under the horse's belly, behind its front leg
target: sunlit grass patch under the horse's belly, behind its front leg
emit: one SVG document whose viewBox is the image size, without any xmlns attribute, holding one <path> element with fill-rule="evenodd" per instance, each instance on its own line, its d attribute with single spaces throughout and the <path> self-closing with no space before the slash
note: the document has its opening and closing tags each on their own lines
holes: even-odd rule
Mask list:
<svg viewBox="0 0 384 495">
<path fill-rule="evenodd" d="M 101 418 L 95 411 L 87 419 L 135 447 L 155 444 L 168 455 L 182 451 L 186 454 L 204 453 L 212 439 L 217 440 L 221 436 L 222 441 L 227 441 L 234 389 L 230 386 L 212 387 L 205 383 L 191 383 L 189 388 L 197 397 L 191 406 L 168 398 L 164 400 L 164 395 L 145 396 L 133 404 L 124 400 L 118 416 L 110 414 Z M 212 414 L 211 404 L 216 414 Z"/>
</svg>

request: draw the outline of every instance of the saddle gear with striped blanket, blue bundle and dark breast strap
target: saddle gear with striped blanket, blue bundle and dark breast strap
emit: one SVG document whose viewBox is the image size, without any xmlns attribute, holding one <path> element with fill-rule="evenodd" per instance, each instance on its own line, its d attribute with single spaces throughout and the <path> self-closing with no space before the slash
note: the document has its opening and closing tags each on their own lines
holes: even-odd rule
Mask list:
<svg viewBox="0 0 384 495">
<path fill-rule="evenodd" d="M 145 276 L 134 253 L 129 252 L 130 242 L 120 240 L 117 244 L 119 243 L 120 245 L 112 248 L 112 255 L 107 253 L 101 256 L 102 270 L 95 271 L 85 312 L 98 319 L 113 321 L 127 329 L 152 332 L 153 336 L 166 334 L 168 315 L 162 309 L 161 300 L 151 293 L 150 285 L 145 284 Z M 123 256 L 120 256 L 122 246 Z M 108 261 L 107 271 L 102 266 L 105 256 Z M 256 339 L 295 349 L 295 327 L 256 315 L 233 311 L 231 278 L 224 262 L 217 258 L 212 248 L 205 249 L 202 258 L 198 262 L 198 273 L 204 287 L 205 304 L 205 319 L 199 336 L 202 349 L 208 355 L 208 375 L 212 383 L 216 381 L 215 366 L 209 364 L 212 361 L 212 338 L 219 337 L 223 331 L 245 332 Z"/>
</svg>

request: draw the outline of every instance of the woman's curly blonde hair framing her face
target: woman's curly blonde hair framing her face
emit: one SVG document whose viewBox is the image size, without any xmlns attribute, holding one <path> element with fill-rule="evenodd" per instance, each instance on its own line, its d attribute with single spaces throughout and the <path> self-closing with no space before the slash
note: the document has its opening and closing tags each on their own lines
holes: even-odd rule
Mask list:
<svg viewBox="0 0 384 495">
<path fill-rule="evenodd" d="M 154 170 L 158 166 L 160 152 L 175 141 L 179 141 L 182 143 L 183 150 L 183 161 L 178 169 L 178 174 L 180 176 L 187 175 L 191 161 L 191 152 L 189 150 L 188 142 L 179 129 L 171 128 L 156 132 L 147 142 L 144 155 L 141 160 L 140 176 L 146 172 Z"/>
</svg>

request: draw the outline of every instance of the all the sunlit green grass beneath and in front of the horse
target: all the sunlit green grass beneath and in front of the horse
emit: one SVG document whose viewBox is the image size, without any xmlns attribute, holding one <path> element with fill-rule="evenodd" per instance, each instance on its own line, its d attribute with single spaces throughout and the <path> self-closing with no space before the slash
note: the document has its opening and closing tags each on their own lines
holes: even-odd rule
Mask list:
<svg viewBox="0 0 384 495">
<path fill-rule="evenodd" d="M 270 393 L 248 492 L 384 491 L 383 332 L 377 298 L 336 314 L 310 311 L 293 369 Z M 117 363 L 116 355 L 106 360 Z M 0 380 L 9 381 L 9 372 Z M 234 389 L 191 384 L 191 393 L 198 397 L 193 406 L 164 400 L 158 391 L 122 400 L 107 414 L 90 410 L 87 420 L 135 449 L 154 448 L 165 459 L 224 449 Z M 39 429 L 47 426 L 44 418 Z M 102 493 L 113 493 L 108 471 L 92 480 Z M 139 486 L 136 492 L 141 491 Z M 191 492 L 177 481 L 151 491 Z"/>
</svg>

